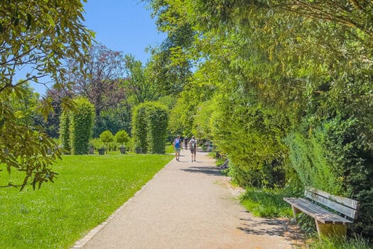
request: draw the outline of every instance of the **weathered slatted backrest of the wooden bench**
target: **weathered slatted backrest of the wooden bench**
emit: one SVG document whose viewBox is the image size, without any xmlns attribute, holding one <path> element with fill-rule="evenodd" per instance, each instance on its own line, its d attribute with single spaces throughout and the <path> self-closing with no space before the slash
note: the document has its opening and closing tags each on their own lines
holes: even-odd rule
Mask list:
<svg viewBox="0 0 373 249">
<path fill-rule="evenodd" d="M 350 218 L 356 219 L 358 216 L 356 209 L 359 207 L 359 203 L 355 200 L 342 196 L 333 196 L 318 189 L 306 190 L 304 191 L 304 196 Z M 345 205 L 345 203 L 347 203 L 348 206 Z M 352 208 L 352 206 L 356 206 L 357 208 Z"/>
</svg>

